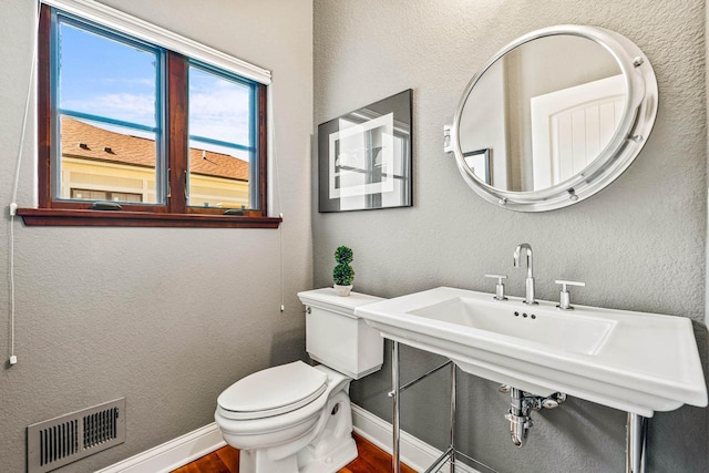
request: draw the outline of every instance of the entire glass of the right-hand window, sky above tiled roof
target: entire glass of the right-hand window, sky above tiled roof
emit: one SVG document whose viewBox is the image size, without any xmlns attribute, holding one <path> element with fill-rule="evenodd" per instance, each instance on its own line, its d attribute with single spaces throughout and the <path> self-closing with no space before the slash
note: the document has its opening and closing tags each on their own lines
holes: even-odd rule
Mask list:
<svg viewBox="0 0 709 473">
<path fill-rule="evenodd" d="M 188 205 L 257 208 L 255 85 L 189 66 Z"/>
</svg>

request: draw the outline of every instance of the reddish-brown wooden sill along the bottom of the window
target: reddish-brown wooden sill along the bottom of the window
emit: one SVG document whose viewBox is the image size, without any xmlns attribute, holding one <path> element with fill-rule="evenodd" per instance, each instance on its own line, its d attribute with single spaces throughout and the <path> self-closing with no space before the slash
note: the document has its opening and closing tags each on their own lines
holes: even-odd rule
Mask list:
<svg viewBox="0 0 709 473">
<path fill-rule="evenodd" d="M 151 212 L 19 208 L 27 226 L 278 228 L 282 218 L 234 215 L 157 214 Z"/>
</svg>

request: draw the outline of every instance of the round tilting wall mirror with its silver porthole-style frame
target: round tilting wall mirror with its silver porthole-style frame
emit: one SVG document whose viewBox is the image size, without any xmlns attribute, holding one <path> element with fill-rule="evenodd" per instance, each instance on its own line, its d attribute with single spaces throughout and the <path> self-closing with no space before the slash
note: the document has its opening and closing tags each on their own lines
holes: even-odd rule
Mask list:
<svg viewBox="0 0 709 473">
<path fill-rule="evenodd" d="M 479 195 L 543 212 L 618 177 L 656 113 L 657 81 L 639 48 L 600 28 L 561 25 L 518 38 L 472 79 L 451 142 Z"/>
</svg>

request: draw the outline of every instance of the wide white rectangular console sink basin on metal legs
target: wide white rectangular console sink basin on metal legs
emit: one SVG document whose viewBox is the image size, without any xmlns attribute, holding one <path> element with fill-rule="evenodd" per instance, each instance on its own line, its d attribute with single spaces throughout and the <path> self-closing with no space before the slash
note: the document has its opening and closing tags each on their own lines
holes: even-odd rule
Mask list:
<svg viewBox="0 0 709 473">
<path fill-rule="evenodd" d="M 440 287 L 358 307 L 382 337 L 442 354 L 463 371 L 651 417 L 707 405 L 691 321 L 682 317 Z"/>
</svg>

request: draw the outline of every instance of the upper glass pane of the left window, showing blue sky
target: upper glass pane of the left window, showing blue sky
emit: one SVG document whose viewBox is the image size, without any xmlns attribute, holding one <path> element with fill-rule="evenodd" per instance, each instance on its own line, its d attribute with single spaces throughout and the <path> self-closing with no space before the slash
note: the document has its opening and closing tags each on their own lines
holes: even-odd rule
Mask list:
<svg viewBox="0 0 709 473">
<path fill-rule="evenodd" d="M 156 53 L 59 22 L 59 107 L 156 127 Z"/>
</svg>

